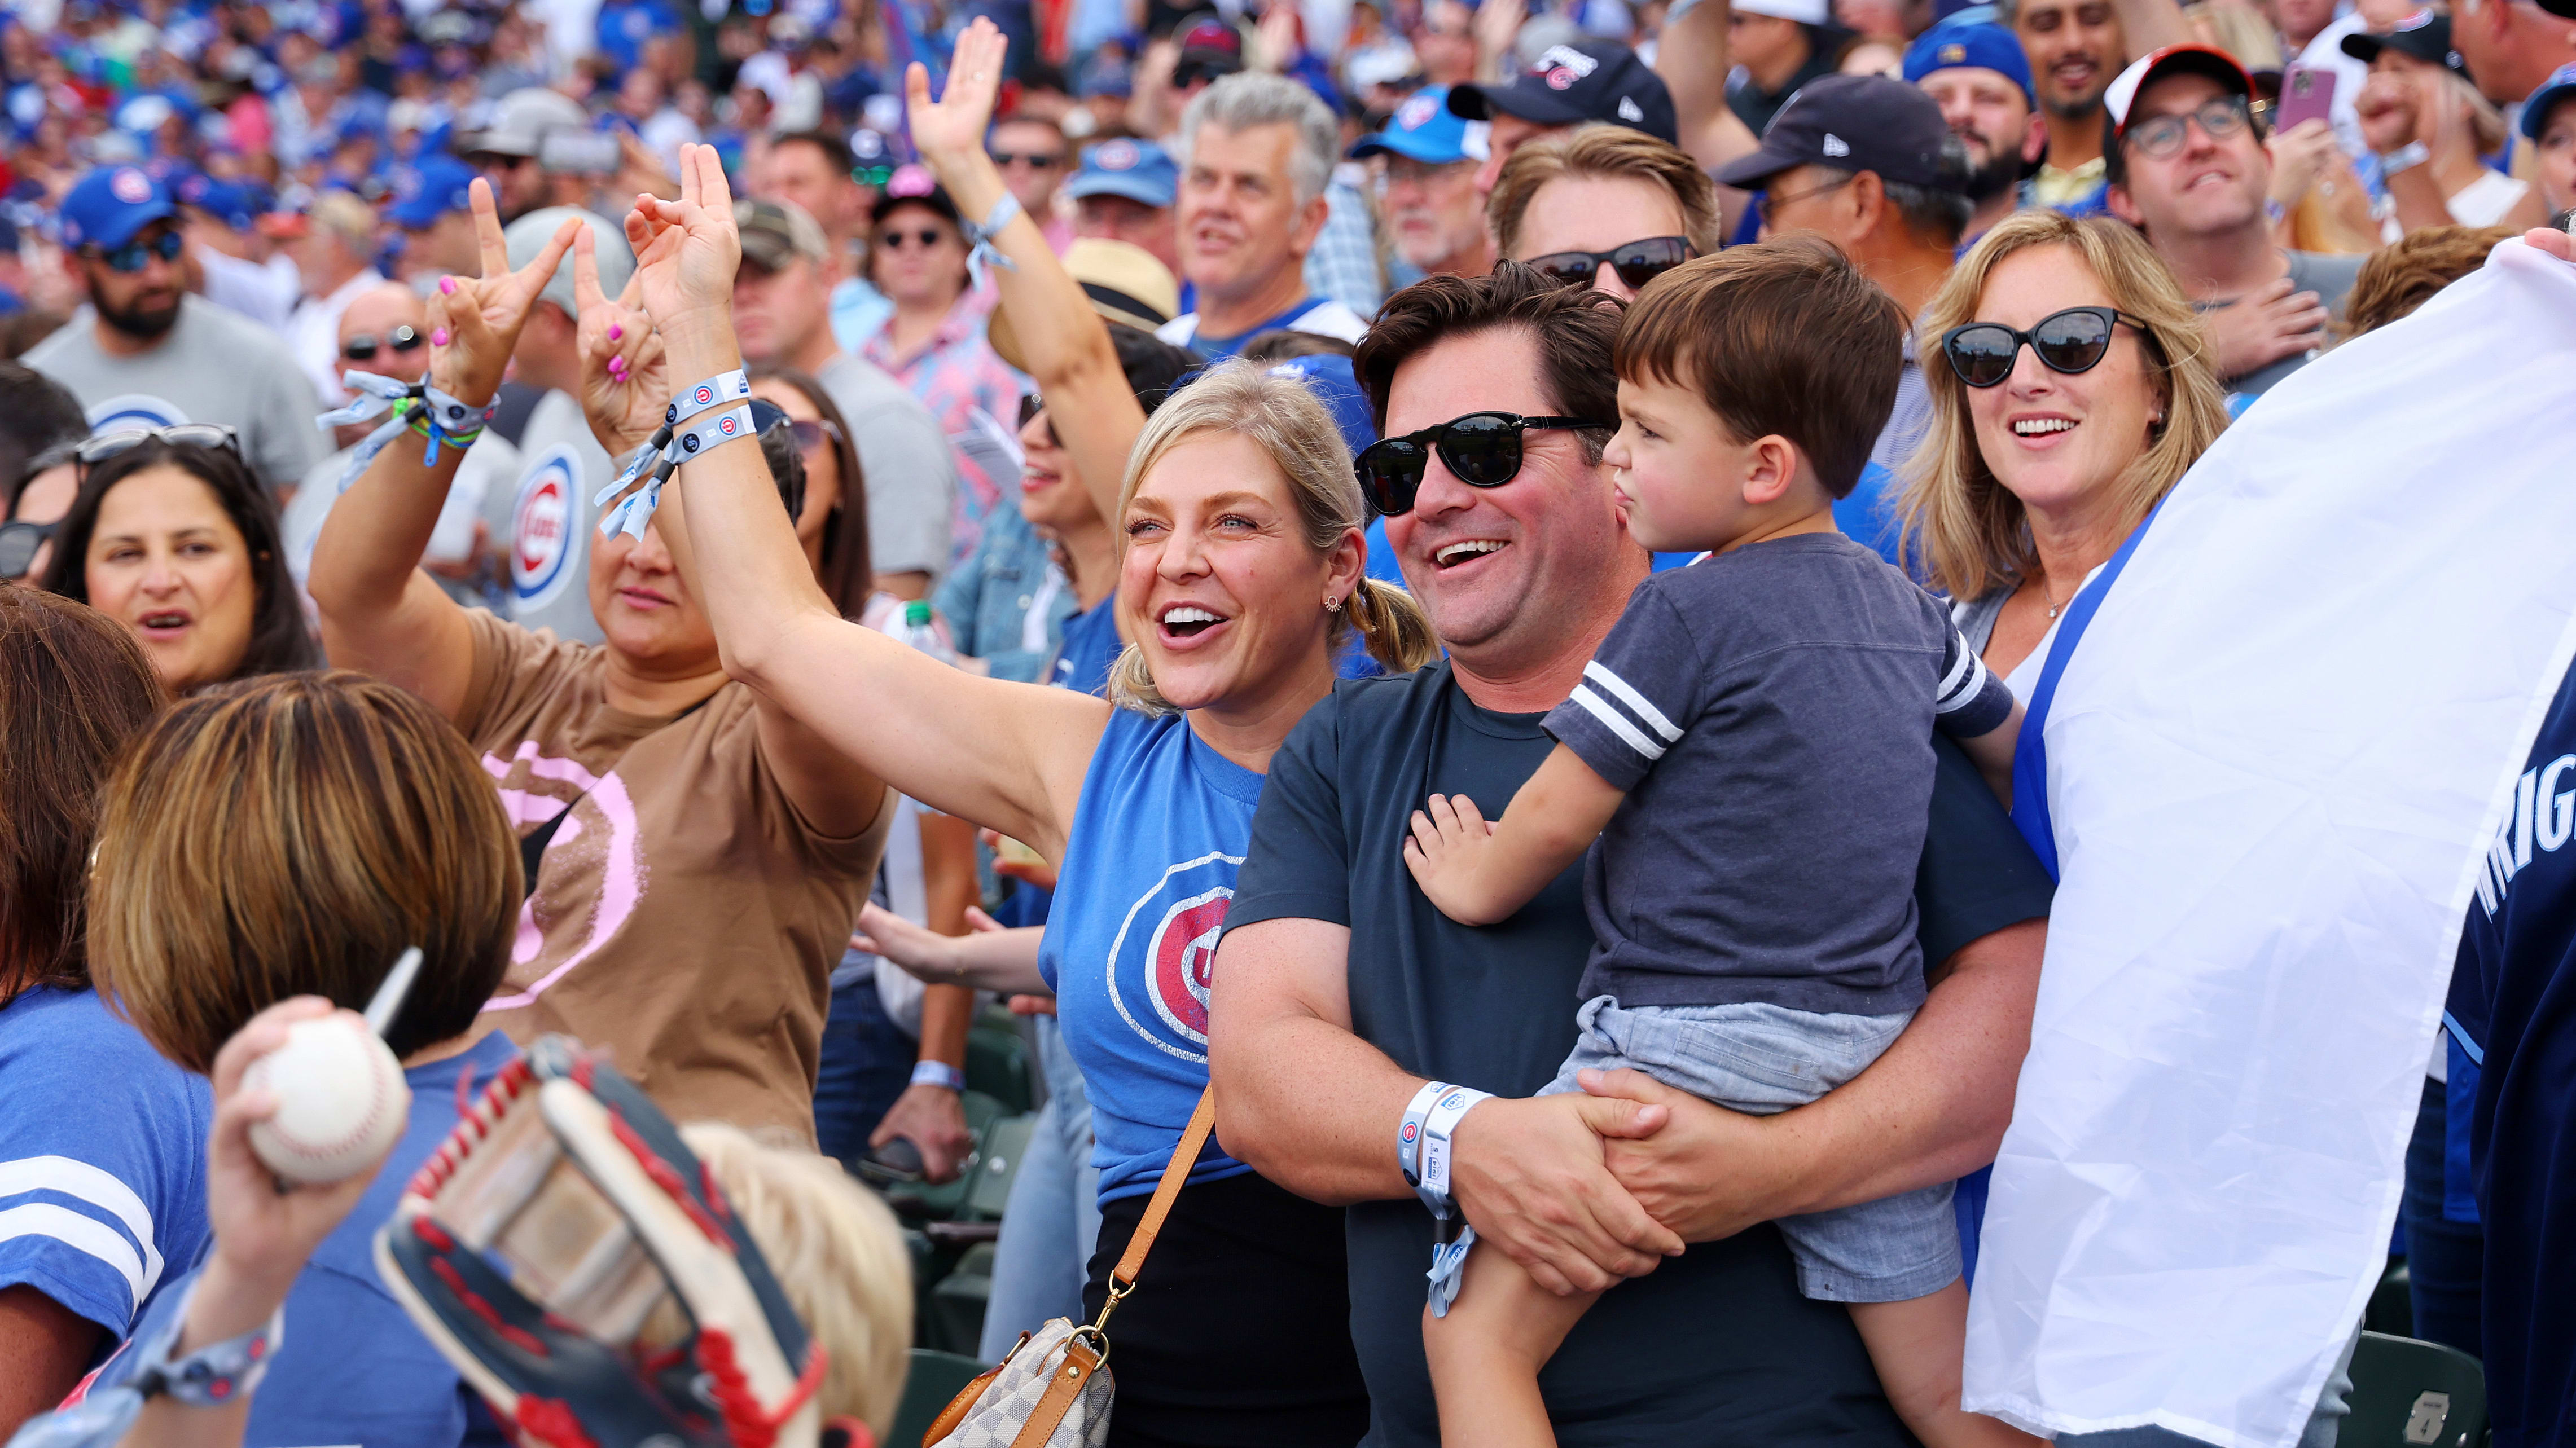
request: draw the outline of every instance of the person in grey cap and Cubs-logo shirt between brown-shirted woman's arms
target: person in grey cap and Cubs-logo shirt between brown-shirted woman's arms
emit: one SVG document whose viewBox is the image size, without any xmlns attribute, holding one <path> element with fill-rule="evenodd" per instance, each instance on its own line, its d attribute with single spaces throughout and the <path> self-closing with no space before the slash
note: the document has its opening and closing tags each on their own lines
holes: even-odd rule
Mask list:
<svg viewBox="0 0 2576 1448">
<path fill-rule="evenodd" d="M 616 222 L 577 206 L 528 211 L 502 232 L 510 268 L 523 268 L 546 250 L 554 229 L 580 222 L 598 247 L 600 291 L 626 291 L 636 258 Z M 590 495 L 618 474 L 608 448 L 590 435 L 582 415 L 582 309 L 572 299 L 572 258 L 554 268 L 546 289 L 528 309 L 528 327 L 510 353 L 518 381 L 538 389 L 528 425 L 518 433 L 518 487 L 495 487 L 484 497 L 484 526 L 505 549 L 502 577 L 510 593 L 510 618 L 526 629 L 554 629 L 556 639 L 598 644 L 600 621 L 590 611 L 590 538 L 598 508 Z"/>
</svg>

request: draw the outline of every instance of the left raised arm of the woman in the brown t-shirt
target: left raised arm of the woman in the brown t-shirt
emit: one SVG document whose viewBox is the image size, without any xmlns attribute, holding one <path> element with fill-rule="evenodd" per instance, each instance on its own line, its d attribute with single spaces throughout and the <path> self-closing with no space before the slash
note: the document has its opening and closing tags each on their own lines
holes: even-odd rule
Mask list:
<svg viewBox="0 0 2576 1448">
<path fill-rule="evenodd" d="M 477 180 L 471 196 L 482 278 L 440 278 L 430 296 L 430 384 L 482 407 L 500 389 L 528 307 L 582 227 L 564 222 L 546 250 L 513 273 L 492 186 Z M 420 569 L 420 554 L 430 546 L 464 448 L 438 448 L 438 466 L 422 464 L 425 451 L 425 438 L 404 430 L 376 453 L 322 523 L 307 587 L 335 665 L 402 685 L 456 719 L 474 670 L 474 639 L 466 611 Z"/>
</svg>

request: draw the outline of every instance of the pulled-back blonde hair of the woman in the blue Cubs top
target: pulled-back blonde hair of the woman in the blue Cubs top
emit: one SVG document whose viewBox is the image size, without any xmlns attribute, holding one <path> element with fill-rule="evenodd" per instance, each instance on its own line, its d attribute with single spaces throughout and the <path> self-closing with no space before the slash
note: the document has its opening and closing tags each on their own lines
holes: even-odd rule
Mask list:
<svg viewBox="0 0 2576 1448">
<path fill-rule="evenodd" d="M 1273 376 L 1247 361 L 1208 368 L 1154 410 L 1144 435 L 1136 438 L 1136 451 L 1128 453 L 1126 482 L 1118 487 L 1118 513 L 1126 515 L 1144 474 L 1154 472 L 1164 453 L 1206 433 L 1252 438 L 1270 456 L 1270 464 L 1288 479 L 1288 502 L 1296 505 L 1306 546 L 1316 554 L 1332 551 L 1345 536 L 1368 526 L 1360 477 L 1350 469 L 1350 448 L 1342 443 L 1342 430 L 1332 425 L 1332 415 L 1303 381 Z M 1358 629 L 1368 654 L 1388 672 L 1412 672 L 1437 657 L 1440 644 L 1432 639 L 1430 618 L 1401 587 L 1363 577 L 1345 603 L 1332 616 L 1327 647 L 1340 649 L 1342 639 Z M 1172 701 L 1154 688 L 1154 672 L 1139 644 L 1128 644 L 1110 665 L 1108 693 L 1118 709 L 1177 714 Z"/>
</svg>

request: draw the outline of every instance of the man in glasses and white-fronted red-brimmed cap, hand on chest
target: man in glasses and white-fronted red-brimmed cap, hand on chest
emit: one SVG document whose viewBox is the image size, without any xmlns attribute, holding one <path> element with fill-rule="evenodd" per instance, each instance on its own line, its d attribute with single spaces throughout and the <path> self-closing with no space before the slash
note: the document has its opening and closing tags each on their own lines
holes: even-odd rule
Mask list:
<svg viewBox="0 0 2576 1448">
<path fill-rule="evenodd" d="M 2272 240 L 2254 80 L 2215 46 L 2166 46 L 2102 95 L 2110 209 L 2146 232 L 2210 325 L 2218 381 L 2259 397 L 2308 366 L 2360 255 Z"/>
</svg>

